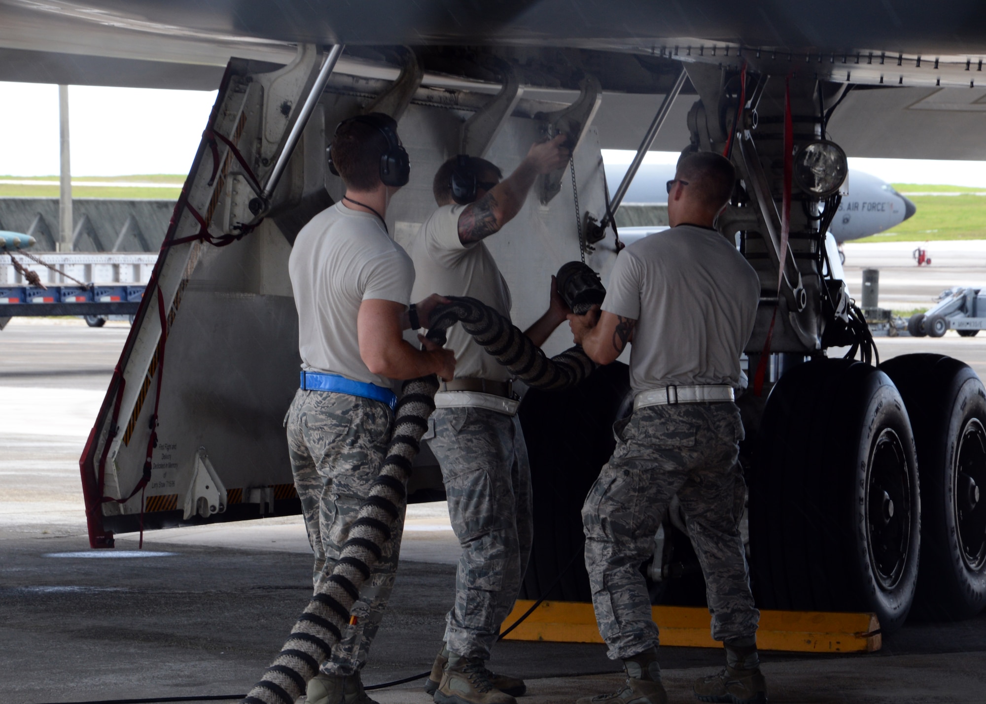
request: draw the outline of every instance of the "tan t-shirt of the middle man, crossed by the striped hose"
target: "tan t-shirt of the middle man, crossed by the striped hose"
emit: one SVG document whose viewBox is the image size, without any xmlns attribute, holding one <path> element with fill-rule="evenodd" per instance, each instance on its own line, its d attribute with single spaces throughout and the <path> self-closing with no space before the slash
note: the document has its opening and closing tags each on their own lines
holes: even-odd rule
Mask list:
<svg viewBox="0 0 986 704">
<path fill-rule="evenodd" d="M 468 296 L 510 317 L 510 289 L 493 255 L 483 243 L 464 246 L 458 240 L 458 216 L 464 205 L 444 205 L 432 213 L 407 246 L 414 262 L 414 301 L 433 293 Z M 456 352 L 456 379 L 511 378 L 458 323 L 449 329 L 446 347 Z"/>
</svg>

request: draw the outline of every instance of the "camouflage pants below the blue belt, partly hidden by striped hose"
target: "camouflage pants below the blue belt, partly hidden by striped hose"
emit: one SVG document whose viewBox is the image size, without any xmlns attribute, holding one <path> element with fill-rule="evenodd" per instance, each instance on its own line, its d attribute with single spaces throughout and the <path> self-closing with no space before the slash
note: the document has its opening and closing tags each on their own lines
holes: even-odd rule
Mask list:
<svg viewBox="0 0 986 704">
<path fill-rule="evenodd" d="M 291 470 L 315 552 L 317 586 L 339 559 L 360 504 L 377 478 L 390 442 L 392 415 L 380 401 L 299 389 L 286 425 Z M 353 604 L 356 624 L 346 628 L 331 658 L 321 666 L 326 674 L 352 674 L 366 665 L 393 589 L 403 517 L 397 525 Z"/>
</svg>

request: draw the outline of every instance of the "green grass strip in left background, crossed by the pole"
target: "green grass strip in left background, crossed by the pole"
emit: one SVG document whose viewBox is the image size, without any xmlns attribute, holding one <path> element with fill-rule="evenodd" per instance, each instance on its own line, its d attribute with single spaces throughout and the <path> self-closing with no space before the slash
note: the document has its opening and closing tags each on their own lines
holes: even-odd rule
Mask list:
<svg viewBox="0 0 986 704">
<path fill-rule="evenodd" d="M 124 198 L 176 200 L 184 183 L 184 175 L 151 174 L 137 176 L 73 176 L 73 198 Z M 4 181 L 41 181 L 33 183 L 5 183 Z M 54 181 L 48 182 L 45 181 Z M 57 198 L 58 176 L 0 176 L 0 196 L 18 198 Z M 96 182 L 99 185 L 85 185 Z M 120 183 L 120 185 L 105 185 Z M 139 183 L 161 183 L 173 187 L 142 187 Z"/>
</svg>

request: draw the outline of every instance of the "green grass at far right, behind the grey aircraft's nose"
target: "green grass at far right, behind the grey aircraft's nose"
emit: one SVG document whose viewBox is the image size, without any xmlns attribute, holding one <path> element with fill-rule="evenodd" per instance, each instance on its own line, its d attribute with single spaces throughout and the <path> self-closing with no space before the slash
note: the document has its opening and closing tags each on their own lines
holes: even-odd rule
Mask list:
<svg viewBox="0 0 986 704">
<path fill-rule="evenodd" d="M 970 195 L 907 195 L 917 212 L 889 232 L 854 242 L 925 242 L 934 240 L 986 240 L 986 192 L 984 188 L 958 185 L 894 183 L 898 192 L 970 193 Z"/>
</svg>

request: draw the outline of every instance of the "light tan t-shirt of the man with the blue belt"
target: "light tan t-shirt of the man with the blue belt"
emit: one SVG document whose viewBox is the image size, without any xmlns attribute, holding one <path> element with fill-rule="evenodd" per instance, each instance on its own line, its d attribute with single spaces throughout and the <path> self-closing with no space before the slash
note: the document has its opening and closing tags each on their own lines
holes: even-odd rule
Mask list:
<svg viewBox="0 0 986 704">
<path fill-rule="evenodd" d="M 302 368 L 357 382 L 392 387 L 360 357 L 356 317 L 368 299 L 406 306 L 414 265 L 376 215 L 342 203 L 318 213 L 302 228 L 288 259 L 298 308 Z"/>
</svg>

